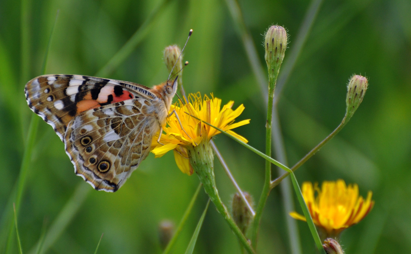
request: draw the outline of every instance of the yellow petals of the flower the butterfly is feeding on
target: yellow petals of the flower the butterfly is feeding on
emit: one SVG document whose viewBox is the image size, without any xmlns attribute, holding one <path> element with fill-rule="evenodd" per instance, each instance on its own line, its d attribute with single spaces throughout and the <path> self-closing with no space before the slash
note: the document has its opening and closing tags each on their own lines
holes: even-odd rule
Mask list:
<svg viewBox="0 0 411 254">
<path fill-rule="evenodd" d="M 244 142 L 248 142 L 248 140 L 233 132 L 231 129 L 248 124 L 250 120 L 247 119 L 234 123 L 236 117 L 244 110 L 244 106 L 241 104 L 236 110 L 232 110 L 231 107 L 233 107 L 234 102 L 229 101 L 229 103 L 221 109 L 221 99 L 214 98 L 212 94 L 211 98 L 208 96 L 202 98 L 200 93 L 191 93 L 188 100 L 189 102 L 185 105 L 180 104 L 180 106 L 178 106 L 177 103 L 171 105 L 169 112 L 171 113 L 173 110 L 177 112 L 184 130 L 182 130 L 175 114 L 172 114 L 167 119 L 167 125 L 163 127 L 163 133 L 160 138 L 161 144 L 157 142 L 159 136 L 159 133 L 157 133 L 152 140 L 151 151 L 157 158 L 173 150 L 178 168 L 180 168 L 183 173 L 192 175 L 193 169 L 189 163 L 187 146 L 195 147 L 201 142 L 208 142 L 211 137 L 220 132 L 189 116 L 189 114 L 228 132 Z"/>
</svg>

